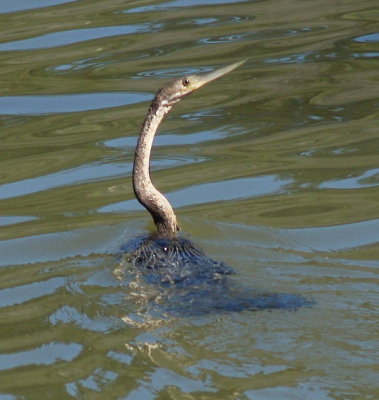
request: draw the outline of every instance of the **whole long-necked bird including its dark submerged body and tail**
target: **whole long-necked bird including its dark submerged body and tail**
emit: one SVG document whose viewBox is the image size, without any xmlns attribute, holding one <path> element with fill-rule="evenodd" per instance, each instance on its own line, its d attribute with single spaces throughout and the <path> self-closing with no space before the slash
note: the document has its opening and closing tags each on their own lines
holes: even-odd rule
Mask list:
<svg viewBox="0 0 379 400">
<path fill-rule="evenodd" d="M 133 189 L 138 201 L 151 214 L 156 233 L 124 247 L 123 251 L 129 254 L 127 260 L 134 275 L 159 288 L 159 295 L 151 296 L 149 301 L 154 312 L 159 308 L 160 312 L 170 315 L 199 315 L 214 310 L 296 309 L 309 304 L 301 296 L 252 293 L 237 285 L 231 279 L 234 271 L 230 267 L 211 259 L 190 240 L 178 236 L 179 225 L 174 210 L 150 179 L 151 148 L 164 116 L 184 96 L 243 62 L 169 82 L 158 91 L 142 125 L 133 165 Z"/>
</svg>

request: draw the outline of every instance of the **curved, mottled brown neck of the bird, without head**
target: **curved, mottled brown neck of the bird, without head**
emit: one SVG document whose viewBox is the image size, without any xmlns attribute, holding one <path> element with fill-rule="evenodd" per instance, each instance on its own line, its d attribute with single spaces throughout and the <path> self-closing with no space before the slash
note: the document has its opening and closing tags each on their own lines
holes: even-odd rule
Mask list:
<svg viewBox="0 0 379 400">
<path fill-rule="evenodd" d="M 179 230 L 171 204 L 160 193 L 150 179 L 150 153 L 155 133 L 171 106 L 153 100 L 141 128 L 133 164 L 133 190 L 137 200 L 153 217 L 159 234 L 174 236 Z"/>
</svg>

